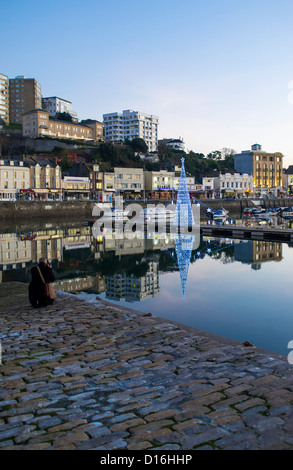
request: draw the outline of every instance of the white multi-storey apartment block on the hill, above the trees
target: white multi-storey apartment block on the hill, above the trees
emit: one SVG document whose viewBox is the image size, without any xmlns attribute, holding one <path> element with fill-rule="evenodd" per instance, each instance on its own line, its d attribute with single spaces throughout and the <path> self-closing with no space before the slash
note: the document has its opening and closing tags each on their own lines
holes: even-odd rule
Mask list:
<svg viewBox="0 0 293 470">
<path fill-rule="evenodd" d="M 159 118 L 140 111 L 124 110 L 122 113 L 103 115 L 105 140 L 108 142 L 124 142 L 140 138 L 145 141 L 149 152 L 158 147 Z"/>
</svg>

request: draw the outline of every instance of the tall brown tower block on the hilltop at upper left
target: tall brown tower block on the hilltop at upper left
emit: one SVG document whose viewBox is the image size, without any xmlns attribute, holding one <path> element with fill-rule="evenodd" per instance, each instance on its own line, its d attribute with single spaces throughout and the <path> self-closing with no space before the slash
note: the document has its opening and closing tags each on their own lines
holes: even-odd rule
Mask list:
<svg viewBox="0 0 293 470">
<path fill-rule="evenodd" d="M 22 115 L 42 108 L 41 85 L 34 78 L 18 76 L 9 79 L 9 120 L 22 123 Z"/>
</svg>

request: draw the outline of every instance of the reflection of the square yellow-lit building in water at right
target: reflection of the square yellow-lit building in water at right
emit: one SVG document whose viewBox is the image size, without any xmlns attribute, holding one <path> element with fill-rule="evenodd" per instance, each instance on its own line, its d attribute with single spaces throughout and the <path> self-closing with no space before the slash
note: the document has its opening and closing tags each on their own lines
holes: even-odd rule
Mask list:
<svg viewBox="0 0 293 470">
<path fill-rule="evenodd" d="M 282 260 L 282 243 L 249 240 L 235 246 L 235 261 L 250 264 L 254 270 L 259 270 L 262 263 Z"/>
</svg>

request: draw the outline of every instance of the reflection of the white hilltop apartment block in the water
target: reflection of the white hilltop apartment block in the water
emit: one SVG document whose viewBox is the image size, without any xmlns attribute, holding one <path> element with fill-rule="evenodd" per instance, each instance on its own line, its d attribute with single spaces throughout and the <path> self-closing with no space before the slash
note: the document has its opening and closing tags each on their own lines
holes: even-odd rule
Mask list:
<svg viewBox="0 0 293 470">
<path fill-rule="evenodd" d="M 148 270 L 143 276 L 123 273 L 106 278 L 106 298 L 109 300 L 142 301 L 159 292 L 159 269 L 155 261 L 148 262 Z"/>
</svg>

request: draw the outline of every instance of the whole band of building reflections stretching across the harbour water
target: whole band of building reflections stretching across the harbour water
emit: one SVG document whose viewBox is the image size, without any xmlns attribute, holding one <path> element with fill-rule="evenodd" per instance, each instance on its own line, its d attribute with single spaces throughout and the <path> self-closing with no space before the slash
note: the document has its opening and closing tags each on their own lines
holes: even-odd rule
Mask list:
<svg viewBox="0 0 293 470">
<path fill-rule="evenodd" d="M 249 264 L 252 269 L 260 269 L 264 262 L 282 259 L 282 244 L 276 242 L 231 240 L 231 245 L 227 247 L 226 239 L 207 240 L 203 237 L 197 249 L 198 245 L 196 240 L 192 247 L 191 263 L 211 252 L 222 256 L 222 247 L 224 259 Z M 139 265 L 139 269 L 134 267 L 133 271 L 128 269 L 124 272 L 123 260 L 127 255 L 130 255 L 131 260 L 135 260 L 135 257 L 143 260 L 145 268 L 141 270 Z M 176 250 L 172 233 L 134 232 L 117 237 L 114 232 L 103 232 L 95 238 L 88 226 L 53 228 L 45 224 L 42 230 L 32 233 L 0 234 L 0 282 L 28 282 L 30 267 L 40 257 L 53 263 L 57 274 L 57 290 L 72 293 L 91 291 L 97 294 L 106 291 L 107 299 L 127 302 L 142 301 L 159 294 L 159 263 L 161 272 L 180 269 L 178 246 Z M 108 259 L 109 263 L 114 258 L 118 260 L 115 274 L 107 277 L 103 275 L 101 264 L 104 257 L 106 263 Z M 183 285 L 187 280 L 187 272 Z M 180 274 L 182 280 L 182 269 Z"/>
</svg>

